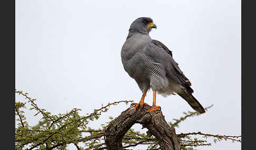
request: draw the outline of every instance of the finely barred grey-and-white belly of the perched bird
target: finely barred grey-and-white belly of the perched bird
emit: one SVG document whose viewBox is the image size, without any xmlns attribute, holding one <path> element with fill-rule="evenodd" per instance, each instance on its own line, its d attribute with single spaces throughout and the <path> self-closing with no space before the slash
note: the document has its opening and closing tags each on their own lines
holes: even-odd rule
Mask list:
<svg viewBox="0 0 256 150">
<path fill-rule="evenodd" d="M 149 58 L 145 53 L 146 48 L 137 51 L 129 60 L 122 59 L 124 70 L 137 82 L 141 91 L 150 88 L 160 93 L 168 91 L 169 81 L 163 65 Z"/>
</svg>

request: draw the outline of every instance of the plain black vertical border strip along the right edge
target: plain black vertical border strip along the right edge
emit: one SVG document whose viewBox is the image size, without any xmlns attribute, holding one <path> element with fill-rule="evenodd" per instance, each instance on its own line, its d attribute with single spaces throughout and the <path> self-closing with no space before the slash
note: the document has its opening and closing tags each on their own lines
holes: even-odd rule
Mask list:
<svg viewBox="0 0 256 150">
<path fill-rule="evenodd" d="M 244 2 L 247 2 L 246 5 Z M 255 5 L 241 1 L 241 110 L 242 110 L 242 149 L 255 149 Z M 253 1 L 251 1 L 253 2 Z"/>
</svg>

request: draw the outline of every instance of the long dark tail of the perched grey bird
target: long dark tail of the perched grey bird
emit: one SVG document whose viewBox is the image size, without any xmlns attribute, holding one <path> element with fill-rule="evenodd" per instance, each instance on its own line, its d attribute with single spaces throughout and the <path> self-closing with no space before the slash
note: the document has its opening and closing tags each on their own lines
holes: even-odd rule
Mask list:
<svg viewBox="0 0 256 150">
<path fill-rule="evenodd" d="M 195 110 L 198 111 L 199 113 L 205 113 L 205 110 L 203 108 L 203 106 L 198 102 L 198 100 L 196 100 L 193 95 L 186 91 L 185 89 L 183 89 L 181 92 L 177 93 L 179 94 L 184 100 L 186 100 L 186 102 L 189 103 L 189 105 Z"/>
</svg>

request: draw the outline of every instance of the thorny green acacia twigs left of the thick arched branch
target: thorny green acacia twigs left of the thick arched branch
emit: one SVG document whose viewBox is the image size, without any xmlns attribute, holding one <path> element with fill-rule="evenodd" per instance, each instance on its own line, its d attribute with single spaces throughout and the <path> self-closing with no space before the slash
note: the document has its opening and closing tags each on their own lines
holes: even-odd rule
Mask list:
<svg viewBox="0 0 256 150">
<path fill-rule="evenodd" d="M 53 149 L 53 148 L 56 148 L 56 147 L 59 147 L 62 145 L 66 145 L 66 144 L 71 144 L 71 143 L 73 143 L 77 147 L 77 144 L 76 144 L 77 142 L 86 142 L 86 141 L 90 141 L 90 140 L 93 140 L 96 138 L 100 138 L 104 135 L 103 133 L 100 133 L 98 135 L 85 136 L 82 138 L 81 137 L 82 134 L 80 134 L 78 127 L 84 131 L 84 129 L 86 128 L 86 126 L 84 126 L 84 125 L 86 125 L 88 123 L 87 119 L 94 120 L 94 119 L 99 118 L 99 115 L 101 114 L 101 112 L 106 112 L 108 110 L 107 107 L 109 107 L 111 105 L 116 105 L 116 104 L 119 104 L 122 102 L 125 102 L 126 104 L 129 102 L 132 102 L 132 101 L 118 101 L 118 102 L 109 103 L 105 106 L 102 105 L 102 108 L 94 110 L 93 113 L 88 114 L 86 116 L 82 116 L 82 117 L 80 117 L 77 114 L 77 111 L 80 109 L 73 109 L 69 113 L 66 113 L 65 115 L 60 114 L 60 116 L 58 117 L 56 115 L 52 115 L 51 113 L 46 112 L 43 109 L 38 108 L 38 106 L 34 103 L 35 99 L 28 97 L 28 95 L 27 95 L 28 93 L 23 93 L 23 91 L 16 91 L 16 90 L 15 90 L 15 93 L 17 93 L 19 95 L 23 95 L 25 97 L 25 99 L 28 99 L 28 101 L 33 106 L 32 109 L 36 109 L 45 118 L 47 118 L 48 120 L 51 121 L 51 122 L 48 122 L 47 120 L 45 120 L 45 121 L 47 121 L 46 126 L 44 126 L 44 124 L 40 125 L 40 126 L 42 126 L 43 130 L 38 127 L 29 127 L 29 126 L 25 127 L 25 125 L 22 121 L 22 117 L 19 114 L 18 109 L 15 108 L 17 115 L 19 116 L 19 118 L 21 120 L 21 124 L 22 124 L 22 126 L 18 126 L 17 128 L 15 128 L 15 135 L 16 135 L 15 142 L 16 142 L 16 146 L 18 146 L 18 149 L 23 148 L 25 145 L 32 144 L 32 143 L 34 143 L 34 144 L 32 144 L 27 149 L 34 149 L 43 144 L 46 145 L 46 147 L 45 147 L 46 149 Z M 25 103 L 22 103 L 22 104 L 25 104 Z M 32 109 L 29 109 L 29 110 L 32 110 Z M 72 117 L 70 117 L 71 115 L 72 115 Z M 64 124 L 62 124 L 62 123 L 64 123 Z M 72 123 L 74 123 L 74 124 L 72 125 Z M 47 125 L 47 124 L 49 124 L 49 125 Z M 73 134 L 72 132 L 76 132 L 76 133 Z M 73 140 L 71 140 L 72 138 L 70 138 L 67 133 L 68 134 L 71 133 L 71 136 L 75 135 L 77 137 L 75 137 L 75 138 L 73 138 Z M 61 135 L 60 137 L 62 140 L 61 140 L 61 142 L 57 142 L 57 144 L 55 144 L 55 145 L 51 144 L 51 146 L 52 146 L 51 147 L 49 144 L 51 143 L 51 141 L 54 142 L 55 138 L 59 137 L 59 136 L 55 136 L 57 134 Z M 39 135 L 44 135 L 44 136 L 40 137 Z M 64 138 L 67 138 L 68 141 L 64 140 Z"/>
</svg>

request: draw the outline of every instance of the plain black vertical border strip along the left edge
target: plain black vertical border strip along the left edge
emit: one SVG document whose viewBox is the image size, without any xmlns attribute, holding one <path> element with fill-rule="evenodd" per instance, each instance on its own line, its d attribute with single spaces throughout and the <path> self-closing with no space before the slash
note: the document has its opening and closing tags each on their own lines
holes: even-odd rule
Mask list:
<svg viewBox="0 0 256 150">
<path fill-rule="evenodd" d="M 0 6 L 1 149 L 15 149 L 15 0 L 1 1 Z"/>
</svg>

